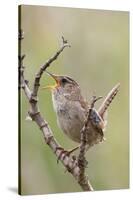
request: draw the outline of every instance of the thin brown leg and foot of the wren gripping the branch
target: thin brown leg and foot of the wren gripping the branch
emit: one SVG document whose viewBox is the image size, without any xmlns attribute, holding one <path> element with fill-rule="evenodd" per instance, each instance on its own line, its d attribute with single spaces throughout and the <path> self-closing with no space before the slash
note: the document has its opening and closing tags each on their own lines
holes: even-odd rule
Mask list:
<svg viewBox="0 0 133 200">
<path fill-rule="evenodd" d="M 64 154 L 64 156 L 63 156 L 63 159 L 64 159 L 65 156 L 70 156 L 78 148 L 79 148 L 79 146 L 77 146 L 77 147 L 75 147 L 73 149 L 70 149 L 70 150 L 65 150 L 63 147 L 57 147 L 56 151 L 61 150 L 60 155 L 58 156 L 58 159 L 57 159 L 57 163 L 59 162 L 59 160 L 60 160 L 60 158 L 62 157 L 63 154 Z"/>
</svg>

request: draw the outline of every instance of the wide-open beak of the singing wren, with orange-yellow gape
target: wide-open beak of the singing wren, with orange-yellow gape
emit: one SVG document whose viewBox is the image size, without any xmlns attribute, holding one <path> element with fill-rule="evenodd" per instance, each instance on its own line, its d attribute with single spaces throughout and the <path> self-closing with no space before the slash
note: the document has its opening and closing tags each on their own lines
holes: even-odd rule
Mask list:
<svg viewBox="0 0 133 200">
<path fill-rule="evenodd" d="M 55 89 L 57 87 L 60 86 L 60 76 L 58 75 L 55 75 L 55 74 L 51 74 L 50 72 L 48 71 L 45 71 L 48 75 L 50 75 L 54 80 L 55 80 L 55 84 L 54 85 L 48 85 L 48 86 L 45 86 L 45 87 L 42 87 L 42 89 Z"/>
</svg>

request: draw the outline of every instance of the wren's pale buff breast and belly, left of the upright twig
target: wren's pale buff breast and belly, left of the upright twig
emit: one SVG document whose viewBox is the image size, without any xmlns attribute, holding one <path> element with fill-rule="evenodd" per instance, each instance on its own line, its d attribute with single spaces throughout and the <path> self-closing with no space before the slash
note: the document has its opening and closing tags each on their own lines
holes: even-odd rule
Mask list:
<svg viewBox="0 0 133 200">
<path fill-rule="evenodd" d="M 57 113 L 57 123 L 62 131 L 73 141 L 80 143 L 80 130 L 84 125 L 85 110 L 78 101 L 56 101 L 53 99 Z"/>
</svg>

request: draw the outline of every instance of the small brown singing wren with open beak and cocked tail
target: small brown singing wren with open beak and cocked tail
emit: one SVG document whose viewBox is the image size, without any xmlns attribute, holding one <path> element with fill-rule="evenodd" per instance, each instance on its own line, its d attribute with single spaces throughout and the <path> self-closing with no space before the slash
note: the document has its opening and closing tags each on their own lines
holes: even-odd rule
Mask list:
<svg viewBox="0 0 133 200">
<path fill-rule="evenodd" d="M 79 84 L 69 76 L 61 76 L 47 72 L 56 82 L 46 86 L 52 91 L 53 107 L 57 115 L 58 126 L 73 141 L 80 143 L 81 129 L 84 126 L 89 109 L 89 103 L 81 94 Z M 86 130 L 86 143 L 93 146 L 104 140 L 106 122 L 104 113 L 118 91 L 119 85 L 111 91 L 99 111 L 92 109 L 91 124 Z"/>
</svg>

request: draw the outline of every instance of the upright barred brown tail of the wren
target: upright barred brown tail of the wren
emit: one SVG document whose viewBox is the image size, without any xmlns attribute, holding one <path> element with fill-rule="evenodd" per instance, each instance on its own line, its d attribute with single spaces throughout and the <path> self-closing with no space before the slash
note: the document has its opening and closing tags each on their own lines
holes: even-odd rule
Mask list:
<svg viewBox="0 0 133 200">
<path fill-rule="evenodd" d="M 116 94 L 118 93 L 120 88 L 120 83 L 118 83 L 107 95 L 107 97 L 105 98 L 105 100 L 103 101 L 102 105 L 100 106 L 100 108 L 98 109 L 98 113 L 99 115 L 102 117 L 102 119 L 104 118 L 104 114 L 107 110 L 107 108 L 109 107 L 109 105 L 111 104 L 112 100 L 114 99 L 114 97 L 116 96 Z"/>
</svg>

